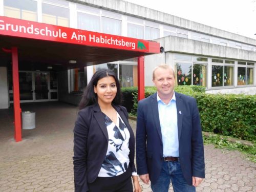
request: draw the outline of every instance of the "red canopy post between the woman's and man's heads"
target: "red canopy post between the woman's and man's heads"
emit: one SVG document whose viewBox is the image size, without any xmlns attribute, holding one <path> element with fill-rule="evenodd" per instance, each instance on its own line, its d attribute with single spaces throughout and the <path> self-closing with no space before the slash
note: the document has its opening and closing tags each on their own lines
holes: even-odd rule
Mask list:
<svg viewBox="0 0 256 192">
<path fill-rule="evenodd" d="M 145 98 L 144 56 L 138 57 L 138 100 Z"/>
</svg>

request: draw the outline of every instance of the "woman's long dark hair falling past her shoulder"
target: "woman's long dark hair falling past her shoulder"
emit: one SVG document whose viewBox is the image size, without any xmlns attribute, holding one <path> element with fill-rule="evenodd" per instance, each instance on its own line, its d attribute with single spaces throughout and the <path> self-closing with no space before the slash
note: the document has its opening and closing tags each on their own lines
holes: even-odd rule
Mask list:
<svg viewBox="0 0 256 192">
<path fill-rule="evenodd" d="M 91 81 L 89 82 L 88 86 L 83 92 L 82 99 L 78 105 L 79 110 L 86 108 L 86 106 L 93 105 L 97 103 L 97 94 L 94 93 L 94 86 L 97 86 L 97 83 L 100 79 L 104 77 L 112 76 L 116 81 L 116 97 L 112 101 L 113 104 L 120 104 L 121 103 L 121 90 L 120 90 L 120 83 L 117 79 L 116 74 L 114 71 L 110 69 L 100 69 L 93 74 Z"/>
</svg>

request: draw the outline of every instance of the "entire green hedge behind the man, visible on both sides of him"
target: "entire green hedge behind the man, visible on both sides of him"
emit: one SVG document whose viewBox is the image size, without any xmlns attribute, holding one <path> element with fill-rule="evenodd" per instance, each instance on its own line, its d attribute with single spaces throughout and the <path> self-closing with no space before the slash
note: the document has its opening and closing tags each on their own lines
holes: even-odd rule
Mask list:
<svg viewBox="0 0 256 192">
<path fill-rule="evenodd" d="M 203 131 L 239 139 L 256 139 L 256 95 L 205 94 L 201 86 L 178 86 L 175 91 L 197 100 Z M 156 92 L 145 87 L 145 97 Z M 133 115 L 137 113 L 137 88 L 122 88 L 123 105 Z"/>
</svg>

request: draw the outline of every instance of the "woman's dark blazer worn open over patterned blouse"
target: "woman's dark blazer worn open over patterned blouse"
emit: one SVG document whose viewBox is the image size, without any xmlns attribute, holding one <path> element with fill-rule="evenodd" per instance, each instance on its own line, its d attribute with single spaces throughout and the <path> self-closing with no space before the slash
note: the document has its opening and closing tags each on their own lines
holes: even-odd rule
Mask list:
<svg viewBox="0 0 256 192">
<path fill-rule="evenodd" d="M 135 172 L 135 138 L 123 106 L 113 105 L 130 132 L 129 166 Z M 108 150 L 109 136 L 99 105 L 91 105 L 78 112 L 74 127 L 74 182 L 76 192 L 88 191 L 88 183 L 97 178 Z"/>
</svg>

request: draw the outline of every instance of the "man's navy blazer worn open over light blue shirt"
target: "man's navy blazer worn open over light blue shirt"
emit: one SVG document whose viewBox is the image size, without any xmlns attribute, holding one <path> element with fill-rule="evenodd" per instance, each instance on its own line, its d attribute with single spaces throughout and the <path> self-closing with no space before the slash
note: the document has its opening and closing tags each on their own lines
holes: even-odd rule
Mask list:
<svg viewBox="0 0 256 192">
<path fill-rule="evenodd" d="M 175 92 L 179 139 L 179 161 L 186 182 L 204 178 L 204 148 L 196 99 Z M 172 114 L 169 114 L 170 116 Z M 139 175 L 149 174 L 157 182 L 163 163 L 163 141 L 157 93 L 139 101 L 136 130 L 136 164 Z"/>
</svg>

